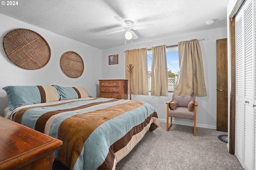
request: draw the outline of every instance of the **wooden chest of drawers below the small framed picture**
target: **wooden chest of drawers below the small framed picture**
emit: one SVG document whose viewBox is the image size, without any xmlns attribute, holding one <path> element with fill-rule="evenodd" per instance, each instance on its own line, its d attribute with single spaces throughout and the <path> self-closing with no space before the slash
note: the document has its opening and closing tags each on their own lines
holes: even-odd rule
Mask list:
<svg viewBox="0 0 256 170">
<path fill-rule="evenodd" d="M 100 97 L 128 99 L 128 80 L 109 79 L 100 81 Z"/>
</svg>

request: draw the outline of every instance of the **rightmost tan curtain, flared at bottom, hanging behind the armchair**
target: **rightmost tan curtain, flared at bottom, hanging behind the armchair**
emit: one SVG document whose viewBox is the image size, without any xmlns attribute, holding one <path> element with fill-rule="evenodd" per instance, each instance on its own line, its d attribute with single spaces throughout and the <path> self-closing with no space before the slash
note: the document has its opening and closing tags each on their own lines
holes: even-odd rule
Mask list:
<svg viewBox="0 0 256 170">
<path fill-rule="evenodd" d="M 173 95 L 206 96 L 202 53 L 198 40 L 178 43 L 180 73 Z"/>
</svg>

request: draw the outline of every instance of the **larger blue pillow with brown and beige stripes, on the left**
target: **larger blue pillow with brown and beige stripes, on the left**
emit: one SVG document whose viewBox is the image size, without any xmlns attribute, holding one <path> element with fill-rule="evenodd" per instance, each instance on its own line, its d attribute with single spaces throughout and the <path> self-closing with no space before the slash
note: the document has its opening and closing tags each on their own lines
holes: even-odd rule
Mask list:
<svg viewBox="0 0 256 170">
<path fill-rule="evenodd" d="M 46 103 L 60 100 L 58 91 L 53 86 L 6 86 L 9 109 L 22 105 Z"/>
</svg>

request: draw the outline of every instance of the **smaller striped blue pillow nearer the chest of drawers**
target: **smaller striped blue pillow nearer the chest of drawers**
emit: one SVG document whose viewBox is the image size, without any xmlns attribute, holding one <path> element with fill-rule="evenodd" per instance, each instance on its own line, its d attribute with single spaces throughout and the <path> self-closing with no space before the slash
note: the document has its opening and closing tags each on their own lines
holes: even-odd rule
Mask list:
<svg viewBox="0 0 256 170">
<path fill-rule="evenodd" d="M 68 99 L 80 99 L 83 97 L 89 97 L 89 94 L 83 87 L 62 87 L 59 85 L 53 85 L 58 89 L 60 93 L 60 100 Z"/>
</svg>

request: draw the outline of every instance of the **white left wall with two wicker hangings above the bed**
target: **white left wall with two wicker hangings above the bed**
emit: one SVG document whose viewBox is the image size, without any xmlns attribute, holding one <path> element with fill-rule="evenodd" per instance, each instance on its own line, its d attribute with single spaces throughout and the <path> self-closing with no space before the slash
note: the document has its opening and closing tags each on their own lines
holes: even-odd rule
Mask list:
<svg viewBox="0 0 256 170">
<path fill-rule="evenodd" d="M 0 116 L 8 107 L 8 97 L 2 87 L 8 85 L 62 85 L 84 87 L 96 97 L 98 79 L 102 77 L 102 50 L 32 26 L 14 18 L 0 14 L 0 40 L 13 29 L 26 28 L 40 34 L 51 48 L 51 58 L 46 66 L 37 70 L 27 70 L 16 66 L 0 49 Z M 66 51 L 75 51 L 84 61 L 84 73 L 78 78 L 70 78 L 60 67 L 60 57 Z"/>
</svg>

